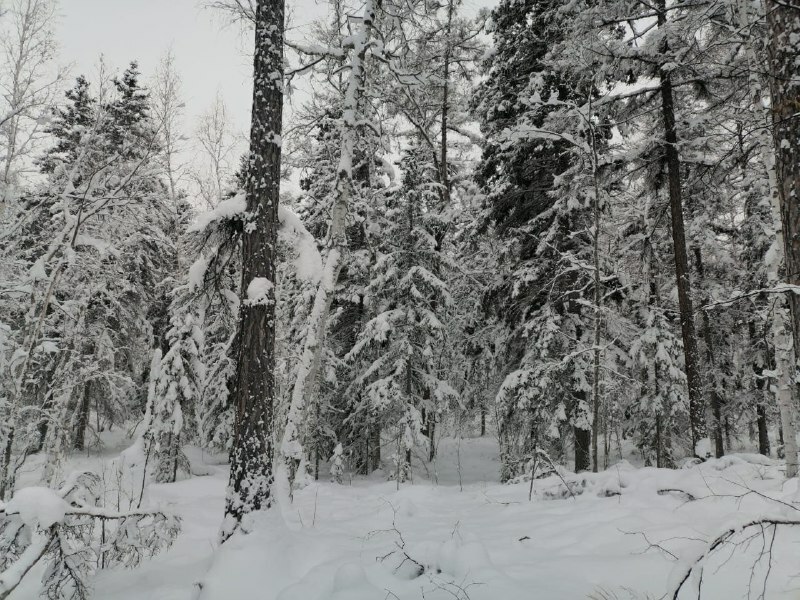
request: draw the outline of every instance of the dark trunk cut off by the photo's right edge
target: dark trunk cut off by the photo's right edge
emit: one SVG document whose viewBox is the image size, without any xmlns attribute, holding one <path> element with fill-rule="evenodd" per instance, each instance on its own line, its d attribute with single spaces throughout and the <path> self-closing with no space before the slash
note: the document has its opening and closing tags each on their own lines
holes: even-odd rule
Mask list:
<svg viewBox="0 0 800 600">
<path fill-rule="evenodd" d="M 797 69 L 797 43 L 800 35 L 800 7 L 795 2 L 767 0 L 767 26 L 769 30 L 767 50 L 769 55 L 770 91 L 772 96 L 772 124 L 775 147 L 775 177 L 777 200 L 783 224 L 783 247 L 786 265 L 786 282 L 800 285 L 800 78 Z M 788 294 L 791 310 L 793 342 L 788 340 L 788 332 L 779 322 L 776 309 L 775 322 L 775 360 L 779 361 L 791 344 L 794 357 L 800 356 L 800 296 Z M 787 380 L 794 377 L 794 360 L 783 365 L 788 368 Z M 797 475 L 797 441 L 795 432 L 795 407 L 793 386 L 779 381 L 776 385 L 778 406 L 781 411 L 783 427 L 786 476 Z"/>
</svg>

